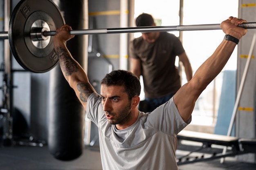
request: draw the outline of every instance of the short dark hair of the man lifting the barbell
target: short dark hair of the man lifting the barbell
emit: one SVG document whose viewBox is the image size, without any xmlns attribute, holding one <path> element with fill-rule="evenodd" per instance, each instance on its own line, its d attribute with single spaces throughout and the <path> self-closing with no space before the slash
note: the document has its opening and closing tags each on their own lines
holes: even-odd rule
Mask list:
<svg viewBox="0 0 256 170">
<path fill-rule="evenodd" d="M 125 91 L 128 94 L 129 100 L 132 97 L 139 96 L 141 86 L 138 77 L 132 74 L 130 71 L 114 70 L 101 80 L 101 84 L 106 86 L 124 86 Z"/>
</svg>

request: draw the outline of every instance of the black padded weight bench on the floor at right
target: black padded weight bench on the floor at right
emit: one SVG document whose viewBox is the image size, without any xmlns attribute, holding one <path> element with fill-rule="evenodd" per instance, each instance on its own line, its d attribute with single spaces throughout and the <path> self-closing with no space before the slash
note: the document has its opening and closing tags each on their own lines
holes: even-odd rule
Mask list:
<svg viewBox="0 0 256 170">
<path fill-rule="evenodd" d="M 189 154 L 181 157 L 177 157 L 176 161 L 178 165 L 183 165 L 187 163 L 195 163 L 199 161 L 209 161 L 213 159 L 219 159 L 224 157 L 231 157 L 236 155 L 241 155 L 245 153 L 256 153 L 256 139 L 239 139 L 237 137 L 216 135 L 203 132 L 193 132 L 189 130 L 182 130 L 177 135 L 177 140 L 194 141 L 202 143 L 202 146 L 192 150 Z M 227 147 L 226 152 L 216 152 L 213 148 L 214 145 Z M 207 154 L 203 151 L 207 150 Z M 193 155 L 195 152 L 201 152 L 200 156 Z M 211 152 L 211 153 L 209 153 Z M 206 156 L 208 155 L 208 156 Z"/>
</svg>

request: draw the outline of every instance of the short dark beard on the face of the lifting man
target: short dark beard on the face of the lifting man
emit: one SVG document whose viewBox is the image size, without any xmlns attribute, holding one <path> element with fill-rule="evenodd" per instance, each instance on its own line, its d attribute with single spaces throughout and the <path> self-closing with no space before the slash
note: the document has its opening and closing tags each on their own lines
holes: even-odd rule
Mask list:
<svg viewBox="0 0 256 170">
<path fill-rule="evenodd" d="M 131 119 L 131 102 L 129 102 L 122 110 L 118 113 L 110 113 L 110 115 L 115 115 L 115 119 L 109 119 L 110 124 L 126 124 Z"/>
</svg>

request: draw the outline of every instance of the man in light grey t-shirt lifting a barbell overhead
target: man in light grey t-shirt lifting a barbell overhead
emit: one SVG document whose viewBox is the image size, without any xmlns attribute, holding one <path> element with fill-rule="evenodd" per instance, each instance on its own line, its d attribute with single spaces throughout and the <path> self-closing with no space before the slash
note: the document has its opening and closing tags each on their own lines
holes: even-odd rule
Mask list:
<svg viewBox="0 0 256 170">
<path fill-rule="evenodd" d="M 140 112 L 140 82 L 132 73 L 115 70 L 101 81 L 97 94 L 83 68 L 65 42 L 74 37 L 68 25 L 56 29 L 54 49 L 64 77 L 74 89 L 88 117 L 99 127 L 104 170 L 177 170 L 176 135 L 191 122 L 191 113 L 202 91 L 220 73 L 240 38 L 246 22 L 229 17 L 220 26 L 226 34 L 216 51 L 198 68 L 193 78 L 165 104 L 151 113 Z"/>
</svg>

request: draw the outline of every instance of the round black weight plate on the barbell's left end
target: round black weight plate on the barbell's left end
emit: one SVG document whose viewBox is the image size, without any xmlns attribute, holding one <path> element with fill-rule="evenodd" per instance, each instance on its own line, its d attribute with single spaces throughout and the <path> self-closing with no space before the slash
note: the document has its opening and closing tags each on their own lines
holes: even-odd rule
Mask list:
<svg viewBox="0 0 256 170">
<path fill-rule="evenodd" d="M 52 37 L 49 44 L 37 48 L 30 36 L 31 26 L 37 20 L 49 25 L 49 31 L 65 24 L 60 10 L 51 0 L 21 0 L 11 13 L 8 38 L 13 56 L 27 71 L 45 73 L 58 63 Z"/>
</svg>

